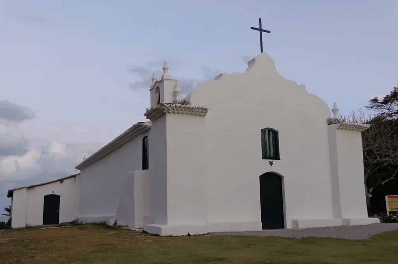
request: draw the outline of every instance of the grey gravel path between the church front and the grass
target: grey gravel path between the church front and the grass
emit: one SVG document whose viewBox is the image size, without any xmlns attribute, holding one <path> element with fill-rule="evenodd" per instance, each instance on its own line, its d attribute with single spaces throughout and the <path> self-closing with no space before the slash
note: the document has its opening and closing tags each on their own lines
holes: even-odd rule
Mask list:
<svg viewBox="0 0 398 264">
<path fill-rule="evenodd" d="M 385 231 L 398 229 L 398 223 L 378 223 L 370 225 L 351 225 L 335 227 L 316 227 L 305 229 L 274 229 L 246 232 L 215 232 L 211 235 L 236 235 L 259 237 L 332 237 L 342 239 L 369 239 Z"/>
</svg>

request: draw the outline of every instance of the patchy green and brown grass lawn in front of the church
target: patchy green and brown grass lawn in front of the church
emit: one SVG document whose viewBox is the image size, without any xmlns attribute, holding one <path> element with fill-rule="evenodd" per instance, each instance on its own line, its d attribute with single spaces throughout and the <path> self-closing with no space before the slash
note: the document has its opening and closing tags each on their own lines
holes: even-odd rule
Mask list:
<svg viewBox="0 0 398 264">
<path fill-rule="evenodd" d="M 102 225 L 0 232 L 0 263 L 396 264 L 398 231 L 369 240 L 157 237 Z"/>
</svg>

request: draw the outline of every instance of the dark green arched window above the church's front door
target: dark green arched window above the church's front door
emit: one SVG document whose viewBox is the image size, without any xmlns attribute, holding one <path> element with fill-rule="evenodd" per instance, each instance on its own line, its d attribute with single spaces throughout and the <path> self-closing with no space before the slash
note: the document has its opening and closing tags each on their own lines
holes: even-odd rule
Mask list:
<svg viewBox="0 0 398 264">
<path fill-rule="evenodd" d="M 281 159 L 279 157 L 278 131 L 273 128 L 261 129 L 261 151 L 263 159 Z"/>
</svg>

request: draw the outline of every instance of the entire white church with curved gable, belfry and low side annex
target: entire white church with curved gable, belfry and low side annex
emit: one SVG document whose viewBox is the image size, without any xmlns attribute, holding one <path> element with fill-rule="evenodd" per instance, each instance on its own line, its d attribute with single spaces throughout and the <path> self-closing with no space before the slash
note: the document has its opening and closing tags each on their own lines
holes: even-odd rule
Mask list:
<svg viewBox="0 0 398 264">
<path fill-rule="evenodd" d="M 379 222 L 365 202 L 368 126 L 328 124 L 328 105 L 266 53 L 182 101 L 168 70 L 148 87 L 148 120 L 78 164 L 80 174 L 8 191 L 12 227 L 78 219 L 187 235 Z"/>
</svg>

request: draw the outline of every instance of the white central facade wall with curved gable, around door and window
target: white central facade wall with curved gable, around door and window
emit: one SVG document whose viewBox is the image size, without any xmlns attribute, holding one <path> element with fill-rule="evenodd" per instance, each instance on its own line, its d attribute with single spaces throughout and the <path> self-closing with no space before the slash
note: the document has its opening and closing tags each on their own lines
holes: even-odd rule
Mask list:
<svg viewBox="0 0 398 264">
<path fill-rule="evenodd" d="M 250 68 L 204 83 L 189 96 L 192 105 L 209 108 L 208 221 L 261 221 L 259 176 L 265 172 L 283 175 L 286 227 L 292 219 L 333 218 L 328 106 L 280 76 L 265 53 Z M 281 160 L 272 167 L 261 158 L 265 127 L 279 131 Z"/>
</svg>

